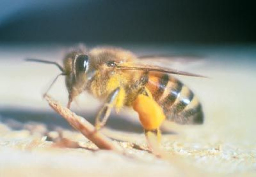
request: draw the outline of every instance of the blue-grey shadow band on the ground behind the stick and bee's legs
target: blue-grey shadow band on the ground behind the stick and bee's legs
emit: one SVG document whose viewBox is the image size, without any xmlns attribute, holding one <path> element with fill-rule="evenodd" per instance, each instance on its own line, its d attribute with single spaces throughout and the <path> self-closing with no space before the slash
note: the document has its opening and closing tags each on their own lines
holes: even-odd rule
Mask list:
<svg viewBox="0 0 256 177">
<path fill-rule="evenodd" d="M 94 114 L 78 113 L 78 115 L 85 117 L 91 124 L 95 122 Z M 38 110 L 0 109 L 0 122 L 6 124 L 13 130 L 25 129 L 24 127 L 26 127 L 27 124 L 43 124 L 48 131 L 54 131 L 57 128 L 73 130 L 60 115 Z M 111 116 L 106 127 L 125 132 L 143 133 L 141 125 L 115 115 Z"/>
</svg>

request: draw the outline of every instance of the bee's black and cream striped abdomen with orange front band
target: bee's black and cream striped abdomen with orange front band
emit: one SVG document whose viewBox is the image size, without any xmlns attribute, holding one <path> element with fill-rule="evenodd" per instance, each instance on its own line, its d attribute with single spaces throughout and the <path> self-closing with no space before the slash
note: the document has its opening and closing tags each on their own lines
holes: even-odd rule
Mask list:
<svg viewBox="0 0 256 177">
<path fill-rule="evenodd" d="M 149 74 L 146 87 L 162 106 L 168 120 L 179 124 L 203 123 L 202 106 L 193 92 L 176 78 Z"/>
</svg>

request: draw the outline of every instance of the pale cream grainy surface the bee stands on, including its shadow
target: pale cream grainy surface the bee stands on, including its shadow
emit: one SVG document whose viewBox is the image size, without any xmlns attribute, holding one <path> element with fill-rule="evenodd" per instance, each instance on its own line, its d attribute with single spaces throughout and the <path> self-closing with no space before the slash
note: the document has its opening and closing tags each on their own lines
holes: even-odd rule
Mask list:
<svg viewBox="0 0 256 177">
<path fill-rule="evenodd" d="M 210 79 L 179 77 L 201 100 L 205 124 L 178 126 L 165 123 L 162 146 L 165 159 L 146 150 L 137 115 L 124 110 L 114 115 L 103 133 L 120 145 L 125 155 L 98 150 L 73 130 L 42 100 L 41 95 L 57 68 L 24 63 L 25 57 L 61 60 L 62 47 L 0 47 L 0 176 L 171 176 L 256 174 L 255 66 L 256 47 L 128 46 L 136 53 L 198 53 L 203 62 L 177 68 Z M 186 67 L 187 66 L 187 67 Z M 63 105 L 67 95 L 60 79 L 50 95 Z M 72 110 L 90 122 L 99 103 L 78 98 Z M 129 114 L 128 114 L 129 113 Z M 126 118 L 129 117 L 129 118 Z M 110 129 L 111 128 L 111 129 Z M 177 132 L 171 134 L 168 132 Z M 63 148 L 59 136 L 68 141 Z M 139 145 L 134 146 L 134 144 Z"/>
</svg>

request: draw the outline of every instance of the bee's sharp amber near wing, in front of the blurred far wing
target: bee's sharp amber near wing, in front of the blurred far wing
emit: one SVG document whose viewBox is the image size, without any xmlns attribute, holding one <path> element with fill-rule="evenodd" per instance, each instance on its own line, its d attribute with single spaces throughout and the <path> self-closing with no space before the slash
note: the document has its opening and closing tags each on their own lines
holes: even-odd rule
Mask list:
<svg viewBox="0 0 256 177">
<path fill-rule="evenodd" d="M 179 70 L 175 70 L 175 69 L 171 69 L 171 68 L 160 67 L 160 66 L 155 66 L 155 65 L 150 65 L 150 64 L 118 63 L 117 64 L 117 69 L 162 72 L 162 73 L 168 73 L 168 74 L 178 74 L 178 75 L 183 75 L 183 76 L 193 76 L 193 77 L 206 78 L 205 76 L 201 76 L 199 74 L 193 74 L 193 73 L 190 73 L 190 72 L 179 71 Z"/>
</svg>

